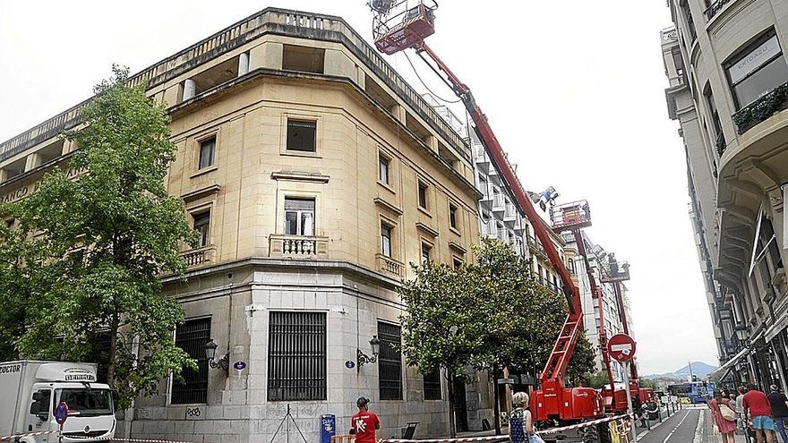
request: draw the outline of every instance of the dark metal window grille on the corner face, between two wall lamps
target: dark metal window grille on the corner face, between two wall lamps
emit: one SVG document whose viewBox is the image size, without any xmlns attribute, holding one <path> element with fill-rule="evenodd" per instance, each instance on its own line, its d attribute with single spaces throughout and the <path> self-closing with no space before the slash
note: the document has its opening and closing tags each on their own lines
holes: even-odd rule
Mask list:
<svg viewBox="0 0 788 443">
<path fill-rule="evenodd" d="M 326 399 L 326 314 L 271 312 L 268 399 Z"/>
</svg>

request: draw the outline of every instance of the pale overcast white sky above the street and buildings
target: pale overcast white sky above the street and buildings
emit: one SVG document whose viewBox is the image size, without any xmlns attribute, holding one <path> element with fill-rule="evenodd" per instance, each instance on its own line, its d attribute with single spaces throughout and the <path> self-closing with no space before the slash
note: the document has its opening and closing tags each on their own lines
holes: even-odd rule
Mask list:
<svg viewBox="0 0 788 443">
<path fill-rule="evenodd" d="M 109 4 L 0 2 L 0 140 L 89 98 L 113 63 L 139 72 L 267 6 L 338 15 L 372 39 L 364 0 Z M 665 106 L 664 0 L 440 4 L 428 43 L 473 90 L 520 181 L 554 186 L 559 202 L 588 200 L 588 234 L 630 262 L 641 372 L 717 364 L 684 151 Z M 410 57 L 430 89 L 454 98 Z M 387 59 L 427 92 L 405 55 Z"/>
</svg>

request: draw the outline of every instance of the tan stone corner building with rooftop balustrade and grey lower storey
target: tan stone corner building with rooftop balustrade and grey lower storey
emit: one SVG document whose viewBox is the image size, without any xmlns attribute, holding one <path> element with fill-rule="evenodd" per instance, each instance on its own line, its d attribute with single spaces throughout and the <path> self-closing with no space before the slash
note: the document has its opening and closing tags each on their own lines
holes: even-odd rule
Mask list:
<svg viewBox="0 0 788 443">
<path fill-rule="evenodd" d="M 444 379 L 398 350 L 396 288 L 411 263 L 472 259 L 467 141 L 328 15 L 265 9 L 131 82 L 169 106 L 167 189 L 201 234 L 183 252 L 186 281 L 166 279 L 186 313 L 176 343 L 199 371 L 138 399 L 118 434 L 267 442 L 290 411 L 317 441 L 321 415 L 341 433 L 368 396 L 381 437 L 407 422 L 418 437 L 446 435 Z M 86 103 L 0 144 L 0 199 L 67 167 L 75 147 L 58 136 Z"/>
</svg>

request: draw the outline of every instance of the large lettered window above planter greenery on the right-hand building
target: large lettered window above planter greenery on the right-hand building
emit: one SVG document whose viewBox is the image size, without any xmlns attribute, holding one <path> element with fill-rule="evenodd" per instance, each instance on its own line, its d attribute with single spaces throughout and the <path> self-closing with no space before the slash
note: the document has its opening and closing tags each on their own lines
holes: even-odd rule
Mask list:
<svg viewBox="0 0 788 443">
<path fill-rule="evenodd" d="M 725 71 L 739 109 L 788 81 L 788 65 L 774 30 L 725 64 Z"/>
</svg>

